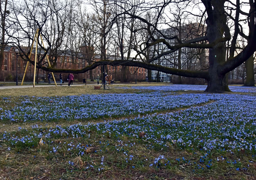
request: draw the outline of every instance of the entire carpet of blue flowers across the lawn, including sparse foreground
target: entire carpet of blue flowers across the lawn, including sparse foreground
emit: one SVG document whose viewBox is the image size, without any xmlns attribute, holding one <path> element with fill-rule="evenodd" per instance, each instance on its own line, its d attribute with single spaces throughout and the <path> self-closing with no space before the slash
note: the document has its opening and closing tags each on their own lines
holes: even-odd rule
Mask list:
<svg viewBox="0 0 256 180">
<path fill-rule="evenodd" d="M 0 174 L 16 168 L 12 173 L 19 178 L 253 179 L 254 88 L 234 86 L 240 94 L 171 92 L 200 88 L 184 87 L 140 86 L 156 92 L 139 94 L 22 97 L 11 110 L 0 109 L 2 122 L 20 125 L 0 131 Z M 12 101 L 4 99 L 6 104 Z M 48 125 L 60 120 L 81 123 Z M 21 122 L 31 125 L 24 128 Z"/>
</svg>

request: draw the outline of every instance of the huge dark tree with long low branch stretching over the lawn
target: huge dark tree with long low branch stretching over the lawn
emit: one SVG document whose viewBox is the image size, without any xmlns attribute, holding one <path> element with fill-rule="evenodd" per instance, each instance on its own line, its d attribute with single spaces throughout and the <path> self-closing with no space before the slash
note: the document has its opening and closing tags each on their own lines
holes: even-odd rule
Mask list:
<svg viewBox="0 0 256 180">
<path fill-rule="evenodd" d="M 136 55 L 134 58 L 131 58 L 129 60 L 122 59 L 122 60 L 108 60 L 107 58 L 102 59 L 98 62 L 93 62 L 91 65 L 78 70 L 72 70 L 72 69 L 54 69 L 49 67 L 44 67 L 39 65 L 38 68 L 41 68 L 46 71 L 51 72 L 72 72 L 72 73 L 84 73 L 88 70 L 94 69 L 97 66 L 101 65 L 110 65 L 110 66 L 137 66 L 142 67 L 150 70 L 156 70 L 161 71 L 168 74 L 174 74 L 178 76 L 185 76 L 185 77 L 192 77 L 192 78 L 203 78 L 206 79 L 208 82 L 208 86 L 206 88 L 207 92 L 220 92 L 220 91 L 230 91 L 228 88 L 228 79 L 227 79 L 227 73 L 235 69 L 236 67 L 240 66 L 243 62 L 245 62 L 247 59 L 249 59 L 253 53 L 256 50 L 256 46 L 254 42 L 256 41 L 256 33 L 254 31 L 255 29 L 255 20 L 252 24 L 251 30 L 250 30 L 250 41 L 248 41 L 248 44 L 244 49 L 239 53 L 235 55 L 232 55 L 232 57 L 227 58 L 226 57 L 226 44 L 231 39 L 235 42 L 238 34 L 238 30 L 235 30 L 235 33 L 231 33 L 231 28 L 227 25 L 227 14 L 225 11 L 225 4 L 228 3 L 228 0 L 201 0 L 199 3 L 200 10 L 202 12 L 201 15 L 194 15 L 195 17 L 200 17 L 200 23 L 202 21 L 202 17 L 204 15 L 207 16 L 205 23 L 207 24 L 206 33 L 202 33 L 201 37 L 197 37 L 194 39 L 190 39 L 187 41 L 182 41 L 179 39 L 178 36 L 167 36 L 161 32 L 161 27 L 159 26 L 159 22 L 166 16 L 165 8 L 172 3 L 187 3 L 187 6 L 191 6 L 191 4 L 194 3 L 194 5 L 197 4 L 198 1 L 188 1 L 188 0 L 180 0 L 180 1 L 162 1 L 160 3 L 150 2 L 146 3 L 146 5 L 143 5 L 143 3 L 137 3 L 140 7 L 138 12 L 140 13 L 131 13 L 129 10 L 124 10 L 120 14 L 111 15 L 111 12 L 109 12 L 109 26 L 105 28 L 102 36 L 106 36 L 113 27 L 113 24 L 116 22 L 116 18 L 119 18 L 121 15 L 125 14 L 126 18 L 133 18 L 137 21 L 140 21 L 144 24 L 146 24 L 146 30 L 148 32 L 148 39 L 143 42 L 140 45 L 136 45 L 136 47 L 131 47 L 132 49 L 138 49 L 137 46 L 140 46 L 140 49 L 144 50 L 148 49 L 150 46 L 154 46 L 158 43 L 165 44 L 168 48 L 167 51 L 162 52 L 161 54 L 158 54 L 157 56 L 151 57 L 146 62 L 138 61 L 138 57 L 143 56 L 143 51 L 136 50 Z M 251 2 L 251 1 L 250 1 Z M 115 1 L 108 1 L 108 3 L 115 3 Z M 128 3 L 129 2 L 123 2 Z M 240 10 L 240 3 L 239 0 L 236 1 L 236 4 L 233 3 L 236 7 L 237 12 Z M 134 6 L 133 4 L 130 4 L 131 6 Z M 255 1 L 253 4 L 249 4 L 251 7 L 254 6 L 255 11 Z M 127 9 L 133 9 L 127 8 Z M 155 9 L 156 18 L 154 22 L 149 22 L 144 17 L 144 14 L 148 11 Z M 251 8 L 252 9 L 252 8 Z M 251 11 L 251 10 L 250 10 Z M 191 12 L 191 15 L 193 15 L 193 12 Z M 237 15 L 237 14 L 236 14 Z M 254 17 L 255 19 L 255 13 Z M 238 21 L 238 18 L 234 18 L 234 22 Z M 253 22 L 253 21 L 250 21 Z M 166 23 L 166 22 L 165 22 Z M 237 28 L 237 25 L 235 25 L 235 28 Z M 145 28 L 142 28 L 141 30 L 145 30 Z M 134 30 L 134 33 L 136 33 L 138 30 Z M 233 30 L 232 30 L 233 31 Z M 240 32 L 240 31 L 239 31 Z M 156 36 L 155 34 L 161 34 L 161 37 Z M 232 34 L 232 35 L 231 35 Z M 157 38 L 156 38 L 157 37 Z M 168 40 L 176 39 L 179 43 L 178 44 L 170 44 L 168 43 Z M 202 43 L 207 42 L 207 43 Z M 232 42 L 231 42 L 232 43 Z M 233 43 L 235 44 L 235 43 Z M 157 60 L 158 58 L 173 53 L 180 48 L 188 47 L 188 48 L 202 48 L 202 49 L 209 49 L 209 69 L 207 71 L 189 71 L 189 70 L 182 70 L 182 69 L 175 69 L 175 68 L 168 68 L 163 66 L 158 66 L 151 64 L 154 60 Z M 46 49 L 47 53 L 48 49 Z M 233 50 L 232 50 L 233 51 Z M 105 52 L 105 51 L 104 51 Z M 30 61 L 27 57 L 27 55 L 24 56 L 27 58 L 28 61 Z M 44 57 L 44 56 L 42 56 Z M 228 60 L 227 60 L 228 59 Z M 33 61 L 30 61 L 32 64 Z"/>
</svg>

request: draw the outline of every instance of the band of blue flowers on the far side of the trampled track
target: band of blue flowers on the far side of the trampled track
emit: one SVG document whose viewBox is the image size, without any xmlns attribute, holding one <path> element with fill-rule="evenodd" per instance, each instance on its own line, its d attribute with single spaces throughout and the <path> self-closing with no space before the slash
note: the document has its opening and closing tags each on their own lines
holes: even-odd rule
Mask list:
<svg viewBox="0 0 256 180">
<path fill-rule="evenodd" d="M 12 109 L 0 109 L 0 119 L 3 122 L 119 118 L 190 107 L 206 103 L 211 97 L 152 92 L 23 98 Z M 6 104 L 12 103 L 12 97 L 3 99 Z"/>
</svg>

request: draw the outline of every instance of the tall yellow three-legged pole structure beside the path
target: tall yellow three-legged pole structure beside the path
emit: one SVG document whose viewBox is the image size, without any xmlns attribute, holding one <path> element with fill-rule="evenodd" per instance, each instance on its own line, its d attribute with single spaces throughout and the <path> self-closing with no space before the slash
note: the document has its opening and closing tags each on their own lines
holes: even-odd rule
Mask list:
<svg viewBox="0 0 256 180">
<path fill-rule="evenodd" d="M 35 37 L 34 37 L 34 40 L 33 40 L 33 43 L 32 43 L 31 49 L 30 49 L 30 53 L 29 53 L 29 56 L 28 56 L 28 57 L 30 58 L 31 53 L 32 53 L 32 50 L 33 50 L 33 47 L 34 47 L 34 43 L 35 43 L 35 41 L 36 41 L 33 87 L 35 87 L 35 80 L 36 80 L 36 60 L 37 60 L 37 47 L 38 47 L 37 38 L 38 38 L 38 35 L 40 35 L 42 45 L 43 45 L 43 47 L 45 48 L 45 45 L 44 45 L 42 36 L 41 36 L 41 34 L 39 34 L 38 31 L 39 31 L 39 29 L 36 30 L 36 34 L 35 34 Z M 46 51 L 45 51 L 45 52 L 46 52 Z M 50 64 L 48 55 L 46 55 L 46 58 L 47 58 L 47 62 L 48 62 L 49 67 L 51 67 L 51 64 Z M 27 61 L 27 65 L 26 65 L 26 68 L 25 68 L 25 71 L 24 71 L 24 75 L 23 75 L 23 78 L 22 78 L 21 85 L 23 85 L 23 81 L 24 81 L 24 78 L 25 78 L 25 75 L 26 75 L 26 71 L 27 71 L 27 68 L 28 68 L 28 63 L 29 63 L 29 62 Z M 51 74 L 52 74 L 52 78 L 53 78 L 53 80 L 54 80 L 54 83 L 55 83 L 55 85 L 57 86 L 53 72 L 52 72 Z"/>
</svg>

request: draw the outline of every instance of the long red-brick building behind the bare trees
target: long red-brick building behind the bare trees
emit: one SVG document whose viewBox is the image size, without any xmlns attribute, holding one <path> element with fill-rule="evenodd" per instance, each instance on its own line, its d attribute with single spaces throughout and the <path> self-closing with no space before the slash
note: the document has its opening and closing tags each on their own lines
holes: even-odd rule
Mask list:
<svg viewBox="0 0 256 180">
<path fill-rule="evenodd" d="M 82 48 L 81 48 L 82 49 Z M 27 47 L 24 47 L 24 51 L 28 52 L 29 49 Z M 67 53 L 69 54 L 69 53 Z M 70 55 L 67 55 L 64 53 L 60 53 L 57 58 L 56 66 L 55 68 L 58 69 L 81 69 L 89 65 L 89 63 L 85 60 L 78 59 L 78 58 L 72 58 Z M 82 50 L 80 55 L 82 54 Z M 31 54 L 30 59 L 34 60 L 35 53 Z M 117 56 L 115 56 L 116 58 Z M 99 56 L 93 57 L 94 61 L 100 60 Z M 114 59 L 114 56 L 108 56 L 109 59 Z M 118 59 L 118 58 L 116 58 Z M 46 66 L 47 66 L 47 59 L 45 58 Z M 6 78 L 6 81 L 14 81 L 16 77 L 16 68 L 18 68 L 18 77 L 19 80 L 22 79 L 25 68 L 26 68 L 26 61 L 23 61 L 21 57 L 18 56 L 18 64 L 16 65 L 16 53 L 15 49 L 13 47 L 7 47 L 4 50 L 4 62 L 2 66 L 2 72 L 3 76 L 0 79 Z M 120 77 L 122 74 L 122 67 L 117 66 L 117 67 L 112 67 L 112 66 L 107 66 L 108 68 L 108 73 L 111 73 L 115 81 L 120 81 Z M 146 79 L 147 76 L 147 70 L 144 68 L 136 68 L 136 67 L 129 67 L 126 73 L 126 77 L 129 81 L 134 81 L 135 80 L 135 71 L 137 69 L 137 79 L 138 80 L 144 80 Z M 92 70 L 92 76 L 94 79 L 96 79 L 97 74 L 101 75 L 101 67 L 98 66 L 95 69 Z M 26 76 L 25 76 L 25 81 L 33 81 L 33 75 L 34 75 L 34 66 L 29 63 L 29 66 L 27 68 Z M 36 72 L 37 75 L 37 72 Z M 59 79 L 59 73 L 54 73 L 56 80 Z M 44 79 L 47 79 L 47 72 L 39 69 L 38 72 L 39 76 L 39 81 L 42 81 Z M 66 78 L 67 73 L 63 73 L 64 78 Z M 90 74 L 89 71 L 85 73 L 80 73 L 80 74 L 74 74 L 75 79 L 77 79 L 79 82 L 82 81 L 82 79 L 90 79 Z M 65 80 L 65 79 L 64 79 Z"/>
</svg>

